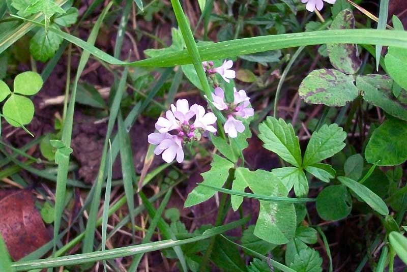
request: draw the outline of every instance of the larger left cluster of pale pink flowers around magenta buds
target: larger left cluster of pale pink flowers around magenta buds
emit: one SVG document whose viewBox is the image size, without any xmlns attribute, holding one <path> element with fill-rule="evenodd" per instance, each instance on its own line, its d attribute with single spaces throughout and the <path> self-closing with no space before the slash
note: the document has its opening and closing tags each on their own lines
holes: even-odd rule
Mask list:
<svg viewBox="0 0 407 272">
<path fill-rule="evenodd" d="M 158 132 L 151 133 L 148 142 L 157 145 L 154 154 L 162 154 L 165 162 L 172 162 L 176 158 L 181 163 L 184 160 L 183 144 L 197 140 L 197 129 L 200 132 L 216 132 L 215 123 L 215 114 L 206 113 L 205 108 L 197 104 L 189 107 L 186 99 L 180 99 L 176 105 L 171 104 L 171 110 L 165 112 L 165 117 L 158 118 L 155 124 Z"/>
</svg>

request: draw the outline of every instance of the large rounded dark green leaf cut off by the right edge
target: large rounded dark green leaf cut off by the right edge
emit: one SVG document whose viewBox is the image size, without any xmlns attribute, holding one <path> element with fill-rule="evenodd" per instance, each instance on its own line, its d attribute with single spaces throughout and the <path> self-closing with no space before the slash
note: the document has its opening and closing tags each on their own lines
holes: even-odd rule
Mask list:
<svg viewBox="0 0 407 272">
<path fill-rule="evenodd" d="M 375 129 L 367 143 L 365 157 L 368 163 L 380 166 L 399 165 L 407 160 L 407 122 L 387 119 Z"/>
</svg>

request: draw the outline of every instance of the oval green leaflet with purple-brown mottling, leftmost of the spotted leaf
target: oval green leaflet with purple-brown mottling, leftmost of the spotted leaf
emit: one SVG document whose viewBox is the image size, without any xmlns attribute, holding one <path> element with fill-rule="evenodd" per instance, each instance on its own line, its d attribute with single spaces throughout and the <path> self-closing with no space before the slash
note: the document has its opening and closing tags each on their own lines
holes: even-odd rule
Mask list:
<svg viewBox="0 0 407 272">
<path fill-rule="evenodd" d="M 359 95 L 353 76 L 325 68 L 309 73 L 298 92 L 307 103 L 327 106 L 344 106 Z"/>
</svg>

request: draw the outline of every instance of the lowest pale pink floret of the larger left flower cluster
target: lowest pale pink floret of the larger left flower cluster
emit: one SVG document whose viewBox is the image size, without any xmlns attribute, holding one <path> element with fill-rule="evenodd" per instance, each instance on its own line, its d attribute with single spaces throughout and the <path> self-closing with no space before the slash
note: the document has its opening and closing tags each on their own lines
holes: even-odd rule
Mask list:
<svg viewBox="0 0 407 272">
<path fill-rule="evenodd" d="M 156 144 L 155 155 L 162 153 L 162 159 L 170 163 L 177 157 L 177 162 L 184 160 L 184 150 L 182 149 L 182 139 L 177 135 L 169 133 L 151 133 L 148 139 L 149 143 Z"/>
</svg>

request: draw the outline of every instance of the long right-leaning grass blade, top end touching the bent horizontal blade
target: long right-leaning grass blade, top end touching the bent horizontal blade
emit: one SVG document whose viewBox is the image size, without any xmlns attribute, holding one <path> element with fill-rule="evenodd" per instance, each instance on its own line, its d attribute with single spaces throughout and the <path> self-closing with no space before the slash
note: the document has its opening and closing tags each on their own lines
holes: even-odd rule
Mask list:
<svg viewBox="0 0 407 272">
<path fill-rule="evenodd" d="M 126 91 L 127 75 L 128 75 L 128 68 L 126 68 L 123 71 L 122 78 L 120 79 L 117 92 L 114 95 L 113 103 L 110 108 L 110 115 L 109 115 L 109 120 L 107 123 L 106 138 L 105 138 L 105 143 L 103 146 L 102 158 L 100 160 L 100 167 L 99 167 L 99 172 L 98 172 L 98 176 L 97 176 L 97 180 L 96 180 L 95 195 L 93 196 L 93 199 L 92 199 L 91 208 L 89 211 L 89 219 L 88 219 L 88 223 L 86 224 L 85 238 L 83 240 L 83 252 L 84 253 L 91 252 L 93 249 L 93 242 L 95 239 L 96 220 L 97 220 L 98 209 L 99 209 L 99 204 L 100 204 L 100 194 L 102 191 L 103 181 L 105 179 L 104 169 L 106 166 L 107 147 L 108 147 L 108 143 L 109 143 L 109 138 L 113 131 L 115 120 L 116 120 L 119 110 L 120 110 L 120 103 L 122 101 L 123 94 Z"/>
</svg>

